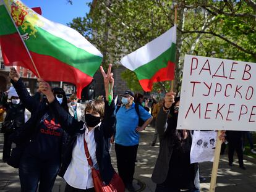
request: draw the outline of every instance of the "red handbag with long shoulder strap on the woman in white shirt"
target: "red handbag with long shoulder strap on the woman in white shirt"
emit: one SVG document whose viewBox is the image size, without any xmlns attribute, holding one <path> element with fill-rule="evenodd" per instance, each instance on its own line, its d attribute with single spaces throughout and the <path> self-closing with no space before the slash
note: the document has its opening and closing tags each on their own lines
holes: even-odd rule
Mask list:
<svg viewBox="0 0 256 192">
<path fill-rule="evenodd" d="M 85 155 L 87 157 L 88 164 L 90 165 L 92 170 L 94 190 L 96 192 L 124 192 L 125 190 L 124 183 L 122 182 L 121 177 L 119 177 L 119 175 L 116 172 L 114 172 L 114 175 L 111 178 L 111 181 L 108 183 L 108 185 L 105 185 L 102 182 L 100 177 L 100 171 L 96 170 L 93 167 L 92 158 L 89 154 L 89 150 L 88 150 L 87 143 L 85 141 L 84 136 L 83 136 L 83 146 L 85 148 Z"/>
</svg>

